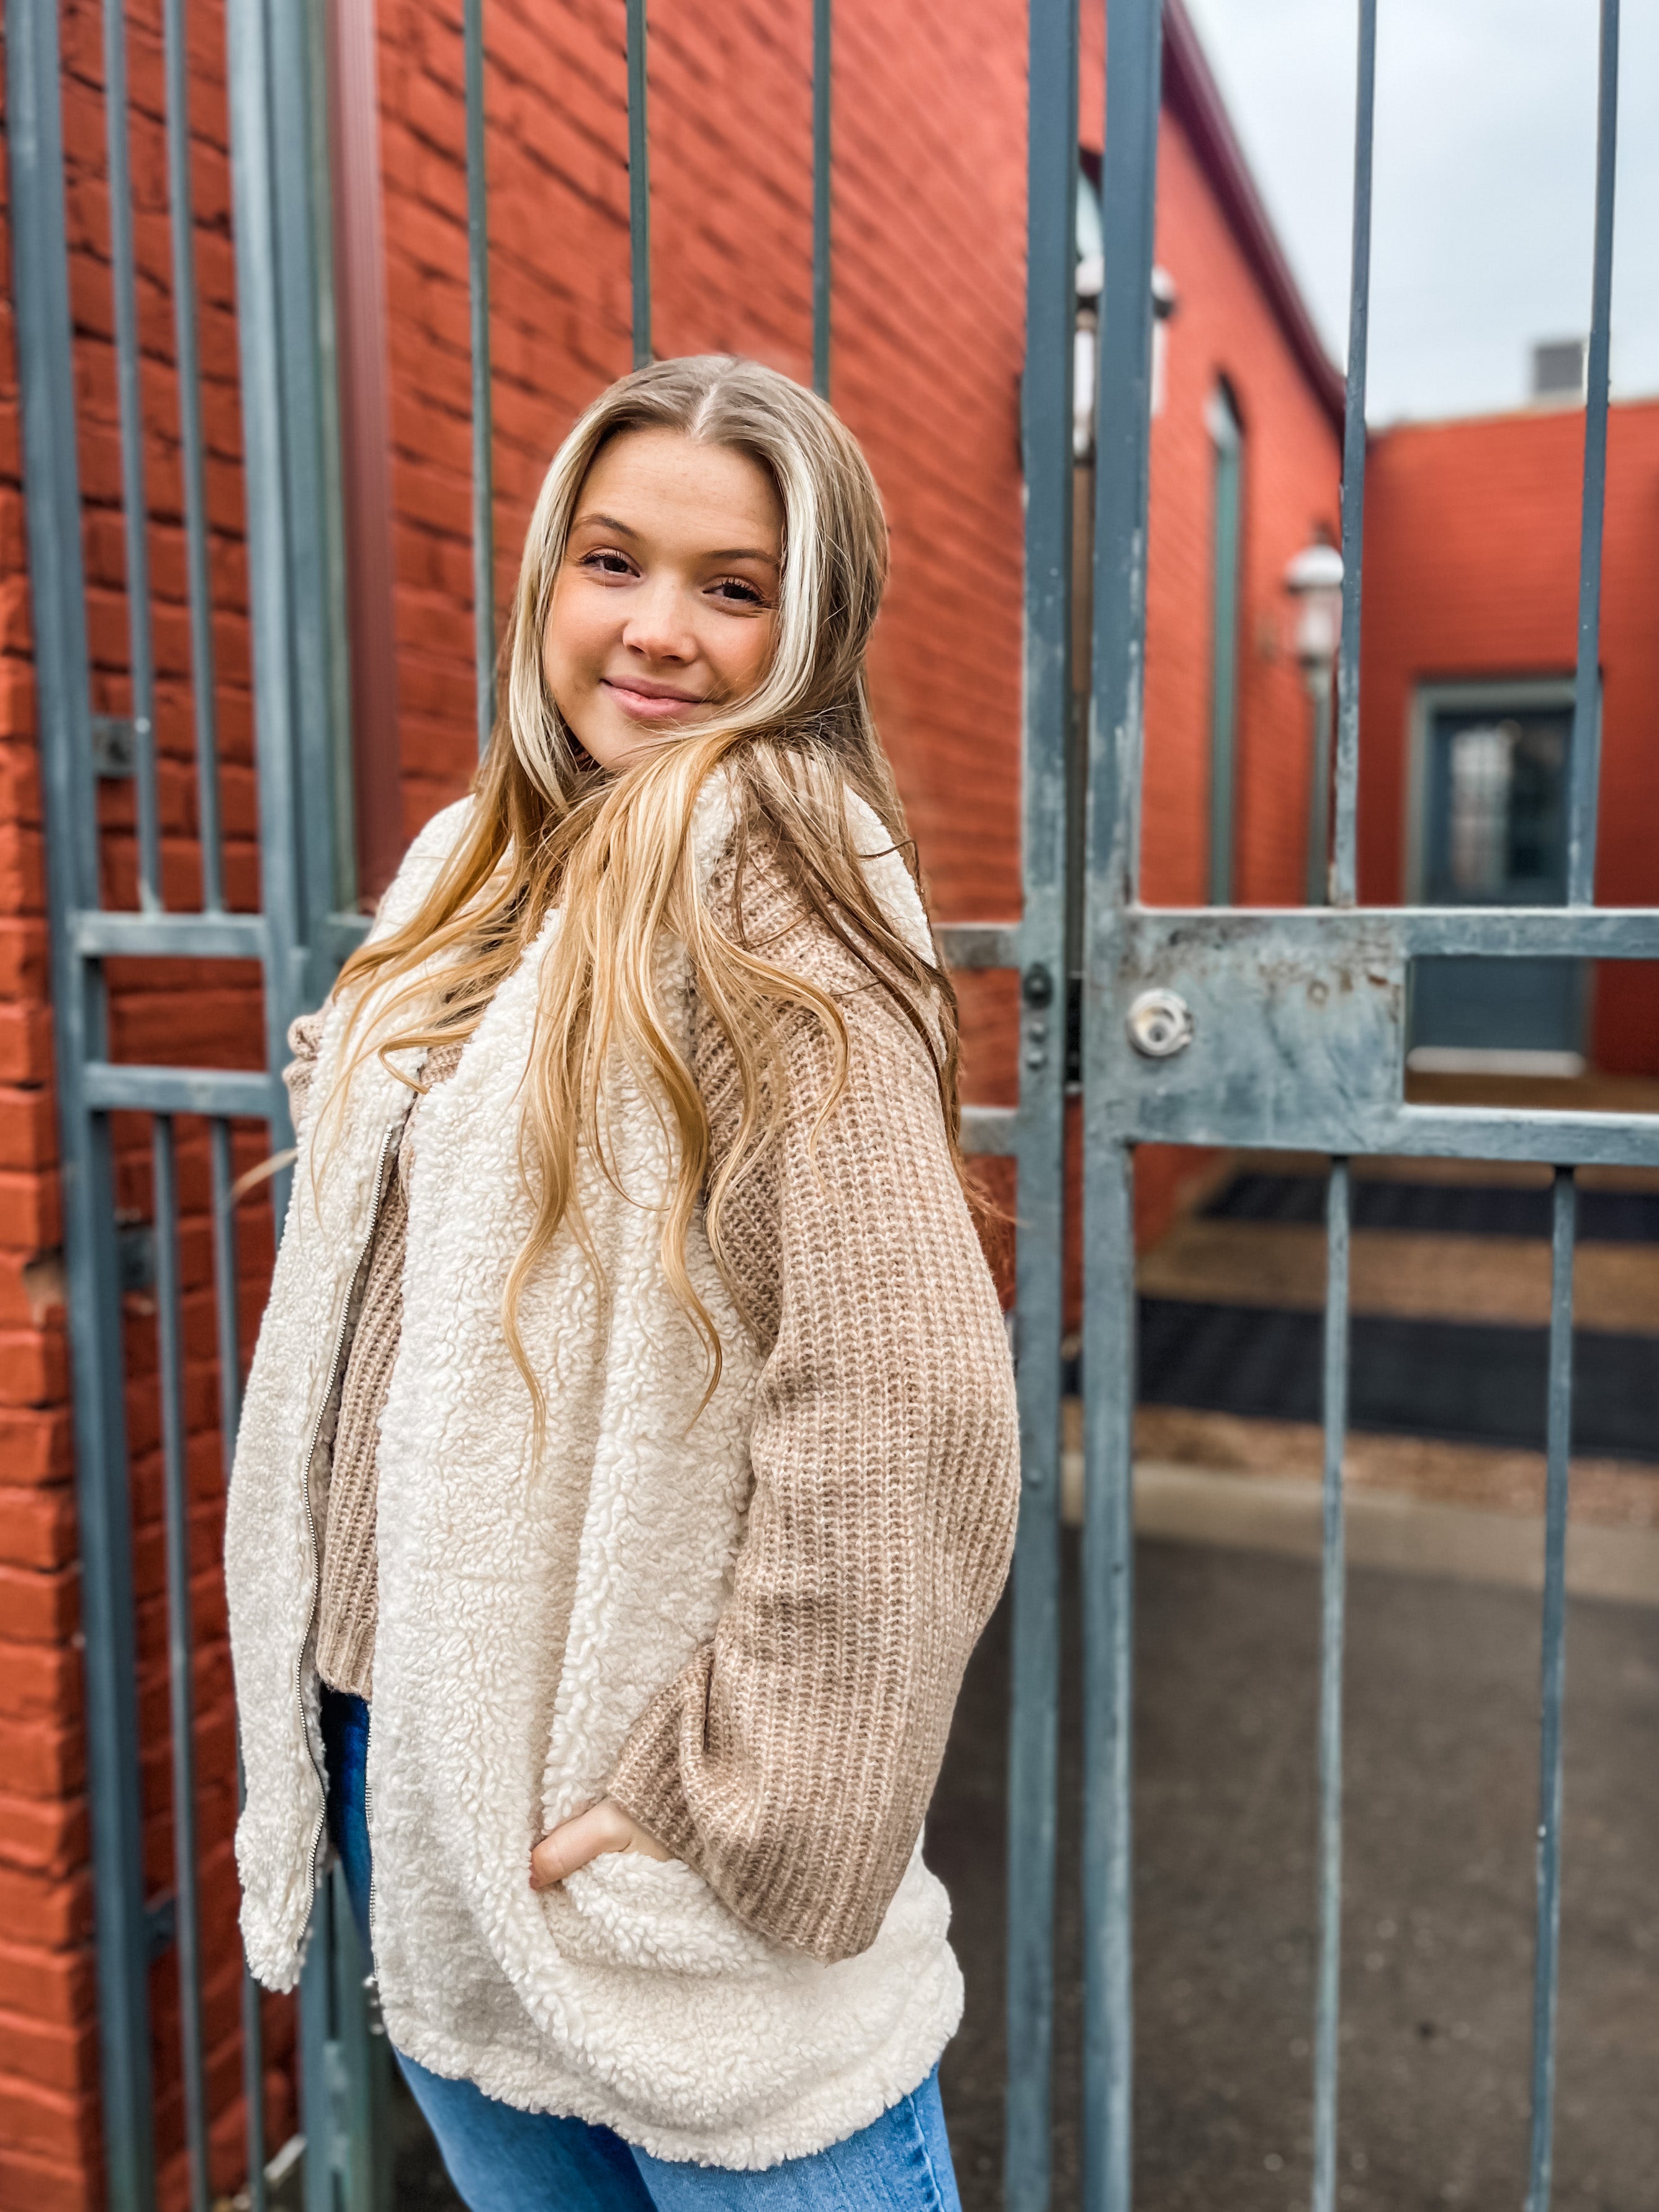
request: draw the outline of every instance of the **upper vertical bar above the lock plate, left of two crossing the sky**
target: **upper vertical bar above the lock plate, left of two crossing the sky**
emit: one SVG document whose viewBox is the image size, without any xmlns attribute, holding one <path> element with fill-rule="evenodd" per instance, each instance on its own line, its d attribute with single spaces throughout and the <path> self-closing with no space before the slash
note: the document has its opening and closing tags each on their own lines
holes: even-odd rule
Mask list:
<svg viewBox="0 0 1659 2212">
<path fill-rule="evenodd" d="M 1360 0 L 1354 102 L 1354 263 L 1347 294 L 1343 411 L 1343 644 L 1336 668 L 1336 834 L 1332 905 L 1358 898 L 1360 566 L 1365 560 L 1365 356 L 1371 341 L 1371 144 L 1376 137 L 1376 0 Z"/>
</svg>

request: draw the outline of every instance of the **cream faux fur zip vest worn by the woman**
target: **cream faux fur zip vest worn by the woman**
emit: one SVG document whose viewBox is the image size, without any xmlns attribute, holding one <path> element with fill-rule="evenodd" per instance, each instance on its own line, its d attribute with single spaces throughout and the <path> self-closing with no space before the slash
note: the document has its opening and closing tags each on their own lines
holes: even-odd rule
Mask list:
<svg viewBox="0 0 1659 2212">
<path fill-rule="evenodd" d="M 378 929 L 414 911 L 467 805 L 416 838 Z M 887 834 L 852 794 L 847 805 L 889 920 L 931 949 Z M 701 885 L 728 841 L 717 783 L 692 827 Z M 945 1891 L 920 1847 L 872 1949 L 830 1966 L 757 1936 L 679 1860 L 606 1856 L 560 1889 L 529 1889 L 531 1843 L 602 1792 L 653 1692 L 714 1628 L 743 1535 L 759 1369 L 699 1223 L 688 1265 L 726 1371 L 697 1416 L 701 1347 L 664 1283 L 650 1203 L 668 1183 L 668 1139 L 648 1095 L 619 1077 L 613 1137 L 628 1199 L 599 1175 L 584 1183 L 608 1305 L 568 1234 L 522 1303 L 549 1407 L 531 1464 L 531 1405 L 500 1303 L 529 1230 L 518 1093 L 555 927 L 557 916 L 420 1110 L 378 1451 L 369 1829 L 380 2004 L 394 2044 L 434 2073 L 604 2121 L 657 2157 L 761 2168 L 838 2141 L 916 2088 L 956 2028 L 962 1986 Z M 688 1048 L 684 951 L 664 953 L 664 1006 Z M 365 1062 L 312 1157 L 341 1029 L 332 1006 L 226 1520 L 248 1772 L 241 1927 L 270 1989 L 299 1978 L 323 1832 L 305 1464 L 387 1130 L 407 1104 L 407 1088 Z M 555 1486 L 586 1500 L 564 1650 L 542 1632 Z"/>
</svg>

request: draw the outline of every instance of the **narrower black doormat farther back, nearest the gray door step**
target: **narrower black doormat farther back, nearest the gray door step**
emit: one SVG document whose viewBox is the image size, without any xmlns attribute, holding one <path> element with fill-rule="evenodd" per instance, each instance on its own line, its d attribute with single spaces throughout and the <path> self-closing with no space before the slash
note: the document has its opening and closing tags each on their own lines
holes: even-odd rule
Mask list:
<svg viewBox="0 0 1659 2212">
<path fill-rule="evenodd" d="M 1458 1237 L 1548 1237 L 1551 1192 L 1513 1183 L 1394 1183 L 1354 1179 L 1356 1230 Z M 1203 1208 L 1212 1221 L 1325 1219 L 1323 1175 L 1245 1170 Z M 1659 1190 L 1579 1190 L 1579 1243 L 1659 1243 Z M 1659 1316 L 1655 1316 L 1659 1325 Z"/>
</svg>

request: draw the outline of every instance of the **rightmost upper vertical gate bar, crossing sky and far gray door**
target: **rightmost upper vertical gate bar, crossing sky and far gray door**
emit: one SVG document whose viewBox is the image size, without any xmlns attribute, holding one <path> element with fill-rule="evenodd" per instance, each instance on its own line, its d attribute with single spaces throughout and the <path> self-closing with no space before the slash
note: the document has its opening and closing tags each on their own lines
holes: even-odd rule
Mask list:
<svg viewBox="0 0 1659 2212">
<path fill-rule="evenodd" d="M 1573 768 L 1566 902 L 1595 902 L 1595 814 L 1601 799 L 1601 513 L 1608 489 L 1608 330 L 1613 321 L 1613 184 L 1619 153 L 1619 0 L 1601 0 L 1595 104 L 1595 274 L 1584 363 L 1584 498 L 1579 509 L 1579 657 L 1573 679 Z"/>
</svg>

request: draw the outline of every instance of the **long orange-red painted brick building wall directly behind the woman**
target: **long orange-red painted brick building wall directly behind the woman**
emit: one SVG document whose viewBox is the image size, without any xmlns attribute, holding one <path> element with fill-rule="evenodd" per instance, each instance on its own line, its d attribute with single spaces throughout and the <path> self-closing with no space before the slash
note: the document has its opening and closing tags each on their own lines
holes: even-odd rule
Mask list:
<svg viewBox="0 0 1659 2212">
<path fill-rule="evenodd" d="M 1079 144 L 1099 150 L 1102 7 L 1084 11 Z M 66 0 L 64 135 L 93 706 L 128 710 L 119 531 L 102 24 Z M 659 352 L 730 347 L 810 363 L 810 4 L 690 0 L 650 11 L 653 274 Z M 217 710 L 232 907 L 254 905 L 223 22 L 190 11 Z M 489 186 L 498 602 L 553 447 L 628 365 L 622 15 L 608 0 L 489 0 Z M 199 872 L 159 0 L 128 7 L 148 551 L 168 898 Z M 473 759 L 467 246 L 456 0 L 338 0 L 336 239 L 363 887 L 465 787 Z M 349 64 L 349 66 L 347 66 Z M 942 918 L 1018 909 L 1020 442 L 1024 345 L 1024 7 L 880 0 L 836 11 L 834 398 L 865 440 L 894 529 L 876 701 Z M 349 179 L 349 190 L 345 184 Z M 376 206 L 378 201 L 378 206 Z M 365 221 L 367 210 L 367 221 Z M 383 250 L 376 228 L 383 219 Z M 1336 400 L 1305 312 L 1183 18 L 1170 15 L 1159 263 L 1175 288 L 1152 449 L 1146 889 L 1201 898 L 1214 741 L 1217 445 L 1225 387 L 1243 438 L 1237 533 L 1237 891 L 1298 896 L 1307 723 L 1287 657 L 1281 573 L 1336 518 Z M 376 489 L 378 487 L 378 489 Z M 133 902 L 131 792 L 106 785 L 106 898 Z M 969 1082 L 1011 1097 L 1011 980 L 969 978 Z M 197 971 L 188 995 L 131 962 L 119 1057 L 259 1060 L 257 987 Z M 122 1208 L 148 1217 L 148 1137 L 119 1130 Z M 243 1161 L 259 1150 L 250 1133 Z M 206 1327 L 206 1170 L 181 1155 L 188 1422 L 197 1571 L 201 1834 L 215 2183 L 239 2172 L 239 2031 L 230 1878 L 232 1734 L 217 1542 L 221 1436 Z M 1175 1161 L 1148 1159 L 1148 1208 Z M 11 283 L 0 288 L 0 2212 L 100 2201 L 95 1962 L 80 1734 L 77 1528 L 66 1409 L 58 1135 Z M 268 1212 L 241 1223 L 243 1338 L 270 1256 Z M 153 1327 L 128 1301 L 146 1851 L 170 1880 Z M 265 2117 L 294 2126 L 290 2008 L 268 2006 Z M 155 1966 L 157 2141 L 181 2201 L 173 1964 Z"/>
</svg>

